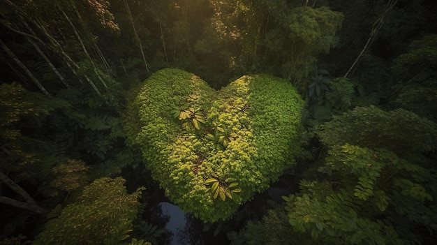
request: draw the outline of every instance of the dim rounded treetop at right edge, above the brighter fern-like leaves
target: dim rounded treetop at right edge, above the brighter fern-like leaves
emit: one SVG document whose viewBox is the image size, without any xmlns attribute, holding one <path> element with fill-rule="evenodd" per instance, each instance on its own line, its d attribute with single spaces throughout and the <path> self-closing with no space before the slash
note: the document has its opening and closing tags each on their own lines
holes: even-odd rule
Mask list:
<svg viewBox="0 0 437 245">
<path fill-rule="evenodd" d="M 385 112 L 378 107 L 356 107 L 334 116 L 319 132 L 323 143 L 385 148 L 403 154 L 432 151 L 437 146 L 437 125 L 403 109 Z"/>
</svg>

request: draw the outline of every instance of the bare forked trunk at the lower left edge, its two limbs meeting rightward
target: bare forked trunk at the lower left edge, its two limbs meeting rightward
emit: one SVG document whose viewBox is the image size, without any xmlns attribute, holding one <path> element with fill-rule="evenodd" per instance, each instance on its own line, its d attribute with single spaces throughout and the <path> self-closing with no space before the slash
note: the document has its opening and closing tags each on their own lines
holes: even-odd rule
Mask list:
<svg viewBox="0 0 437 245">
<path fill-rule="evenodd" d="M 30 211 L 34 211 L 36 214 L 47 214 L 47 210 L 39 207 L 34 198 L 32 198 L 29 193 L 23 190 L 19 185 L 17 185 L 12 179 L 9 179 L 3 172 L 0 170 L 0 181 L 9 186 L 15 193 L 24 198 L 24 202 L 19 200 L 14 200 L 12 198 L 7 198 L 0 195 L 0 202 L 6 205 L 12 205 L 15 207 L 20 207 L 22 209 L 28 209 Z"/>
</svg>

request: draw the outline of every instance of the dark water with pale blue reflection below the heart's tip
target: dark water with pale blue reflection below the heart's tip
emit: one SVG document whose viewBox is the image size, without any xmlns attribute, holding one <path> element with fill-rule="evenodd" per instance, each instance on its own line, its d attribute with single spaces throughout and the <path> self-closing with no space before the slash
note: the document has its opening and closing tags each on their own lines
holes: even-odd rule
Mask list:
<svg viewBox="0 0 437 245">
<path fill-rule="evenodd" d="M 264 193 L 255 195 L 253 200 L 242 205 L 237 213 L 232 216 L 230 221 L 223 221 L 214 224 L 205 224 L 189 214 L 179 209 L 177 205 L 168 200 L 156 203 L 154 210 L 156 219 L 165 220 L 161 223 L 162 228 L 168 232 L 164 235 L 172 234 L 171 237 L 161 237 L 159 244 L 169 245 L 225 245 L 230 244 L 227 233 L 238 231 L 244 228 L 246 222 L 253 219 L 260 219 L 267 210 L 272 208 L 272 204 L 282 202 L 281 196 L 290 195 L 296 191 L 295 176 L 284 175 Z M 165 240 L 165 241 L 164 241 Z"/>
</svg>

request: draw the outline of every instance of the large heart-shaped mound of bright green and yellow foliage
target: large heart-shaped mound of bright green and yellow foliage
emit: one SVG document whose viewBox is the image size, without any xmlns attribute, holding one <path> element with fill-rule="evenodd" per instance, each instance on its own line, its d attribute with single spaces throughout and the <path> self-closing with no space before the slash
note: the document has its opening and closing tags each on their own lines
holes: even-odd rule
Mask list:
<svg viewBox="0 0 437 245">
<path fill-rule="evenodd" d="M 170 200 L 214 222 L 294 163 L 302 105 L 291 84 L 268 75 L 244 76 L 214 91 L 191 73 L 164 69 L 129 106 L 126 132 Z M 195 130 L 186 131 L 184 120 Z M 214 191 L 205 185 L 212 176 Z"/>
</svg>

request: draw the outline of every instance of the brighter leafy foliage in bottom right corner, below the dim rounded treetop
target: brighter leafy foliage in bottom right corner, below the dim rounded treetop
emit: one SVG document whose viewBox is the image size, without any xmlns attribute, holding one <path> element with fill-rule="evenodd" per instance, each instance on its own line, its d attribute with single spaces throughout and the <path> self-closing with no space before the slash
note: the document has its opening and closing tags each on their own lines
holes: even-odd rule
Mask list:
<svg viewBox="0 0 437 245">
<path fill-rule="evenodd" d="M 385 149 L 345 144 L 329 150 L 319 171 L 332 180 L 302 181 L 298 195 L 284 198 L 293 230 L 307 239 L 320 244 L 332 237 L 352 244 L 420 244 L 414 230 L 421 225 L 437 229 L 431 221 L 437 217 L 430 203 L 434 190 L 426 184 L 436 175 L 425 174 L 429 170 L 420 165 Z M 412 213 L 403 217 L 399 210 Z"/>
</svg>

